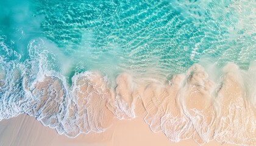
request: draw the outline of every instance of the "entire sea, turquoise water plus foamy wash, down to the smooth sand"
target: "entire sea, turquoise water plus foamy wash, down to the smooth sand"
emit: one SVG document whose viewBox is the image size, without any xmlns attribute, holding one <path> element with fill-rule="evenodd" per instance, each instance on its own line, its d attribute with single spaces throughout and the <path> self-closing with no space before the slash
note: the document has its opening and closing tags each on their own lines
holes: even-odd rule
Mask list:
<svg viewBox="0 0 256 146">
<path fill-rule="evenodd" d="M 170 141 L 256 144 L 255 1 L 22 0 L 0 9 L 0 120 L 26 113 L 75 137 L 142 109 Z"/>
</svg>

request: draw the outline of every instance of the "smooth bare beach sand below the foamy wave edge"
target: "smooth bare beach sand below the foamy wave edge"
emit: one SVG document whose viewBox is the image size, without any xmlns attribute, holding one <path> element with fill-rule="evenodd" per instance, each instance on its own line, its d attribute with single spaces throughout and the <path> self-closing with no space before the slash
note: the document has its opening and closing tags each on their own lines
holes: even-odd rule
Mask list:
<svg viewBox="0 0 256 146">
<path fill-rule="evenodd" d="M 22 114 L 0 122 L 0 145 L 197 145 L 193 140 L 174 143 L 162 133 L 153 133 L 148 125 L 137 117 L 133 120 L 114 120 L 112 127 L 103 133 L 80 134 L 76 138 L 59 135 L 55 130 L 44 127 L 34 117 Z M 229 145 L 211 141 L 208 146 Z"/>
</svg>

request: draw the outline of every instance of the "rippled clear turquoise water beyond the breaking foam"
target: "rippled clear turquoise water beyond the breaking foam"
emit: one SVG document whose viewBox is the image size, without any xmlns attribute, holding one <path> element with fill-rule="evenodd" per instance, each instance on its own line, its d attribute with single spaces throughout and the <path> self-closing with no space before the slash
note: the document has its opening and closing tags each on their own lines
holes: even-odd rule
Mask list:
<svg viewBox="0 0 256 146">
<path fill-rule="evenodd" d="M 1 7 L 5 44 L 24 60 L 29 41 L 43 38 L 59 64 L 72 60 L 66 74 L 152 66 L 177 73 L 202 57 L 247 68 L 256 58 L 255 2 L 4 1 Z"/>
</svg>

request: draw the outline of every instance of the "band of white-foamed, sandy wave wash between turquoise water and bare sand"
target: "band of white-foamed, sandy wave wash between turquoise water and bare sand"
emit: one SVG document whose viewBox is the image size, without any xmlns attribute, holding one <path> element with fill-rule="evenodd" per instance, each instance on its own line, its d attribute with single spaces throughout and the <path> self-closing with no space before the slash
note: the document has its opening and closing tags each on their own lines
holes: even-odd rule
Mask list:
<svg viewBox="0 0 256 146">
<path fill-rule="evenodd" d="M 167 82 L 140 81 L 124 72 L 112 88 L 101 73 L 82 72 L 68 85 L 47 61 L 54 55 L 42 44 L 30 41 L 29 58 L 23 62 L 1 44 L 5 54 L 0 58 L 0 120 L 26 113 L 59 134 L 76 137 L 106 130 L 114 117 L 144 116 L 152 131 L 162 131 L 174 142 L 193 138 L 198 144 L 213 139 L 256 144 L 255 63 L 247 71 L 226 64 L 217 80 L 208 77 L 213 72 L 193 64 Z"/>
</svg>

